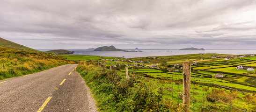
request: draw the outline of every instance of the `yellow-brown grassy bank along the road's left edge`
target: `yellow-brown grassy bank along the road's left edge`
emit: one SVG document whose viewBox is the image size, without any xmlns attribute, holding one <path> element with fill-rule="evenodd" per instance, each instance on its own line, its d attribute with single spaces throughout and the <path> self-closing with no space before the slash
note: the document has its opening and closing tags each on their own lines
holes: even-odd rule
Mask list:
<svg viewBox="0 0 256 112">
<path fill-rule="evenodd" d="M 62 56 L 28 50 L 0 48 L 0 80 L 73 63 Z"/>
</svg>

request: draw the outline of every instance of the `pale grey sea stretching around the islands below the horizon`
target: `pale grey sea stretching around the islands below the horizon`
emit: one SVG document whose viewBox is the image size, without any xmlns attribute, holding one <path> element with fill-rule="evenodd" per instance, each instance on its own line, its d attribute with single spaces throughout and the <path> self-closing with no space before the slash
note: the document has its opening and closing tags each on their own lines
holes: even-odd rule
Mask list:
<svg viewBox="0 0 256 112">
<path fill-rule="evenodd" d="M 48 51 L 52 49 L 38 49 L 41 51 Z M 179 50 L 179 49 L 125 49 L 132 52 L 124 51 L 94 51 L 92 49 L 66 49 L 74 51 L 70 55 L 90 55 L 90 56 L 113 56 L 113 57 L 146 57 L 146 56 L 174 56 L 174 55 L 187 55 L 199 53 L 217 53 L 229 55 L 245 55 L 256 54 L 256 49 L 205 49 L 205 50 Z M 137 51 L 137 52 L 136 52 Z"/>
</svg>

